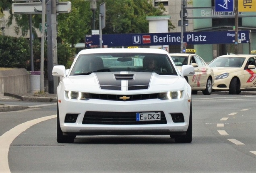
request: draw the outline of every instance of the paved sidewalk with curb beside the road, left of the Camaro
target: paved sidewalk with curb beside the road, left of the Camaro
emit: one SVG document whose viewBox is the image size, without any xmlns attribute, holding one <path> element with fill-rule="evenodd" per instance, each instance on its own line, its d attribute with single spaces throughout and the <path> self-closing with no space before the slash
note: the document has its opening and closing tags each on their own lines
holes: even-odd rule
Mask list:
<svg viewBox="0 0 256 173">
<path fill-rule="evenodd" d="M 1 101 L 33 101 L 33 102 L 57 102 L 56 94 L 36 94 L 36 93 L 4 93 L 0 96 L 0 112 L 19 111 L 27 109 L 27 106 L 6 105 Z"/>
</svg>

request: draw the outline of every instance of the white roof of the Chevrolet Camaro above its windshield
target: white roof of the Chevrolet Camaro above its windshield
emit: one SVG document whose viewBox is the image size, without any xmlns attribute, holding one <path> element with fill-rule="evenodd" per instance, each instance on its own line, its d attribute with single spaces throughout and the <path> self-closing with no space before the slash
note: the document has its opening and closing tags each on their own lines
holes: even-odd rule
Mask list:
<svg viewBox="0 0 256 173">
<path fill-rule="evenodd" d="M 78 54 L 96 53 L 157 53 L 168 54 L 166 50 L 157 48 L 92 48 L 81 50 Z"/>
</svg>

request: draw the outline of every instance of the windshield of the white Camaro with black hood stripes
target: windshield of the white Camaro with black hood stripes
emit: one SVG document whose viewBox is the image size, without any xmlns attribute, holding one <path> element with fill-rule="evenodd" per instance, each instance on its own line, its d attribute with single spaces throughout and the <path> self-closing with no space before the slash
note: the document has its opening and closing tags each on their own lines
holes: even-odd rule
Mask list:
<svg viewBox="0 0 256 173">
<path fill-rule="evenodd" d="M 92 72 L 156 72 L 177 75 L 166 54 L 99 53 L 78 56 L 70 75 L 87 75 Z"/>
</svg>

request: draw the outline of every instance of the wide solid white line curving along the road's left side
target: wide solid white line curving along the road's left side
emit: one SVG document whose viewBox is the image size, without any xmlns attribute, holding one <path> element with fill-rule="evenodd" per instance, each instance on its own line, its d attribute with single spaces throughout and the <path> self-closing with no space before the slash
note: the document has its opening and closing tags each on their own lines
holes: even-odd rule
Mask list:
<svg viewBox="0 0 256 173">
<path fill-rule="evenodd" d="M 0 136 L 0 153 L 1 153 L 0 154 L 0 173 L 10 173 L 10 168 L 8 163 L 8 152 L 9 152 L 9 147 L 12 141 L 17 136 L 19 136 L 22 132 L 27 130 L 29 127 L 37 123 L 40 123 L 42 121 L 46 121 L 56 117 L 57 115 L 51 115 L 51 116 L 41 117 L 38 119 L 27 121 L 25 123 L 17 125 L 16 127 L 13 127 L 12 129 L 4 133 L 2 136 Z"/>
</svg>

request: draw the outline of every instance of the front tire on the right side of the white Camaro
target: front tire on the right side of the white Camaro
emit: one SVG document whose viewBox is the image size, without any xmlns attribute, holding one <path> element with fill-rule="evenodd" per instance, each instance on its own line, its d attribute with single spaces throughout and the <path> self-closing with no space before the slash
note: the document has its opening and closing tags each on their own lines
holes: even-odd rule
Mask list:
<svg viewBox="0 0 256 173">
<path fill-rule="evenodd" d="M 175 143 L 191 143 L 192 142 L 192 101 L 190 102 L 190 115 L 189 115 L 189 123 L 188 130 L 186 135 L 177 136 L 174 138 Z"/>
</svg>

